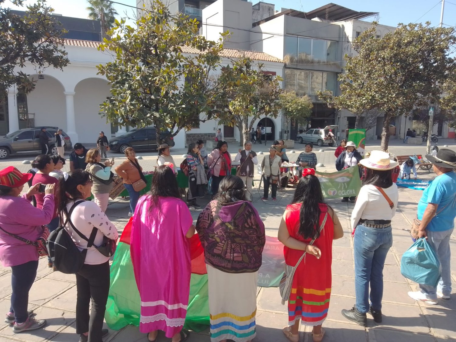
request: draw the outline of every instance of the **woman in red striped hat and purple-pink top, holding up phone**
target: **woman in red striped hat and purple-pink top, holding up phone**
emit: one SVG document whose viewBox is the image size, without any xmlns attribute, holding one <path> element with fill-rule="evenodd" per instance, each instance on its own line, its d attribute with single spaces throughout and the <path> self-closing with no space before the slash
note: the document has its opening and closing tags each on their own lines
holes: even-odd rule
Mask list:
<svg viewBox="0 0 456 342">
<path fill-rule="evenodd" d="M 38 269 L 38 250 L 9 234 L 37 241 L 43 232 L 42 225 L 49 223 L 54 215 L 54 184 L 47 184 L 41 209 L 30 204 L 41 183 L 20 197 L 24 184 L 31 178 L 31 173 L 21 173 L 13 166 L 0 171 L 0 261 L 4 267 L 11 267 L 12 290 L 5 322 L 13 323 L 15 333 L 46 325 L 45 320 L 30 317 L 32 310 L 27 311 L 29 291 Z"/>
</svg>

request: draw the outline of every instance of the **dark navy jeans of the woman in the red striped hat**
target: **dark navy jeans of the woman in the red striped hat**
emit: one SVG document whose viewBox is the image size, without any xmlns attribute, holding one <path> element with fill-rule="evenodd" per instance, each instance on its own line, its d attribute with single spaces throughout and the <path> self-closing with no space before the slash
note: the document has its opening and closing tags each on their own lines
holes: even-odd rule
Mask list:
<svg viewBox="0 0 456 342">
<path fill-rule="evenodd" d="M 36 278 L 38 260 L 11 267 L 11 307 L 17 323 L 24 323 L 28 318 L 28 294 Z"/>
</svg>

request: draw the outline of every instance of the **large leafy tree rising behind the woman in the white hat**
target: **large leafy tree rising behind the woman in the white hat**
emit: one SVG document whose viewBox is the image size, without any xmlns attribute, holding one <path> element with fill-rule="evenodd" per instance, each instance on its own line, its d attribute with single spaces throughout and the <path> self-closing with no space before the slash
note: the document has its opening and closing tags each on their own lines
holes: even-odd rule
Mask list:
<svg viewBox="0 0 456 342">
<path fill-rule="evenodd" d="M 341 95 L 319 93 L 338 109 L 355 115 L 376 108 L 384 113 L 381 149 L 388 149 L 389 124 L 397 114 L 408 115 L 417 106 L 445 104 L 448 82 L 456 78 L 456 61 L 449 49 L 456 43 L 454 27 L 435 28 L 430 22 L 399 24 L 383 38 L 377 23 L 353 42 L 356 56 L 345 56 L 340 75 Z"/>
</svg>

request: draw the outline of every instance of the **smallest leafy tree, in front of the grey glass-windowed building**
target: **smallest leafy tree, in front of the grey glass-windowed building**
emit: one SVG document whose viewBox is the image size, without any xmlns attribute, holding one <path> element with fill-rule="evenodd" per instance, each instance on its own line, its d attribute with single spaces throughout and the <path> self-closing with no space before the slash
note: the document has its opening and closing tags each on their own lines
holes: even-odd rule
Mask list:
<svg viewBox="0 0 456 342">
<path fill-rule="evenodd" d="M 295 124 L 306 124 L 306 118 L 312 114 L 313 103 L 307 95 L 298 96 L 295 92 L 284 92 L 279 96 L 279 104 L 287 128 L 291 121 Z"/>
</svg>

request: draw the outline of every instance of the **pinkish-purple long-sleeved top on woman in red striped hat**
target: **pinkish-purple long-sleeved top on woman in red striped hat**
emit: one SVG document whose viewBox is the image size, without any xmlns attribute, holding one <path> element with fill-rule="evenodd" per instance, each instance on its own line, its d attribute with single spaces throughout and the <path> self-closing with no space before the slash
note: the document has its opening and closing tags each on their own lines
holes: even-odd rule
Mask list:
<svg viewBox="0 0 456 342">
<path fill-rule="evenodd" d="M 54 215 L 54 195 L 44 196 L 43 207 L 33 207 L 26 195 L 22 197 L 0 197 L 0 227 L 8 233 L 36 241 L 41 233 L 41 225 L 51 222 Z M 35 246 L 26 244 L 0 230 L 0 261 L 4 267 L 25 264 L 38 260 Z"/>
</svg>

